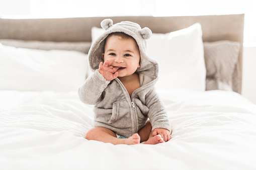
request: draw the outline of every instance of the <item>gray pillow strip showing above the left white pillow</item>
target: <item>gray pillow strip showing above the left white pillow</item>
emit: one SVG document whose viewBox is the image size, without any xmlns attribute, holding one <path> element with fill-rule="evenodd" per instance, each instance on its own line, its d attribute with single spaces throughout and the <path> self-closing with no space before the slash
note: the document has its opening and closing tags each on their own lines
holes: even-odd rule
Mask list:
<svg viewBox="0 0 256 170">
<path fill-rule="evenodd" d="M 50 42 L 0 39 L 0 43 L 5 46 L 12 46 L 16 48 L 38 50 L 68 50 L 79 51 L 86 54 L 88 54 L 91 47 L 91 42 Z"/>
</svg>

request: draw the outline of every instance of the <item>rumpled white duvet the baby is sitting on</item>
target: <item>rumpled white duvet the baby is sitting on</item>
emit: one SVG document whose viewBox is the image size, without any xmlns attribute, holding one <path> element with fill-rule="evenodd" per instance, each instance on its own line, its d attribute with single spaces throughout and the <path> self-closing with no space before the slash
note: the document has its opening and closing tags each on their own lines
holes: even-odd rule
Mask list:
<svg viewBox="0 0 256 170">
<path fill-rule="evenodd" d="M 235 92 L 159 91 L 172 139 L 88 141 L 77 92 L 0 91 L 0 169 L 256 169 L 256 106 Z"/>
</svg>

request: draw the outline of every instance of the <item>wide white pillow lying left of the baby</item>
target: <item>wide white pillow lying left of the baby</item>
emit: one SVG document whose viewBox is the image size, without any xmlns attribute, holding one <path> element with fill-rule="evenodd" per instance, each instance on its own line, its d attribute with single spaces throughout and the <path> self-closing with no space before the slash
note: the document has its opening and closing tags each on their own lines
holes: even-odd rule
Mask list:
<svg viewBox="0 0 256 170">
<path fill-rule="evenodd" d="M 84 53 L 0 44 L 0 90 L 77 91 L 87 74 Z"/>
</svg>

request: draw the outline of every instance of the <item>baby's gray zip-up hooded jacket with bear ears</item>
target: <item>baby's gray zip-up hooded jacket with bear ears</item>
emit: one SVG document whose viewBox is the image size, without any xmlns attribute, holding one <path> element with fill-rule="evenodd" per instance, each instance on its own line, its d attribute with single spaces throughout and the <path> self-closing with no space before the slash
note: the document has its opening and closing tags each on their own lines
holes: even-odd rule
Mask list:
<svg viewBox="0 0 256 170">
<path fill-rule="evenodd" d="M 165 128 L 170 131 L 167 113 L 154 88 L 158 64 L 145 53 L 145 40 L 151 37 L 151 30 L 141 29 L 138 24 L 132 22 L 113 25 L 110 19 L 103 20 L 101 26 L 105 32 L 93 43 L 88 54 L 94 74 L 78 90 L 82 102 L 95 105 L 95 126 L 106 127 L 117 134 L 130 137 L 137 133 L 149 118 L 152 130 Z M 133 37 L 139 47 L 140 68 L 137 72 L 141 87 L 132 93 L 131 98 L 118 78 L 107 81 L 98 71 L 100 62 L 104 62 L 104 40 L 114 32 L 123 32 Z"/>
</svg>

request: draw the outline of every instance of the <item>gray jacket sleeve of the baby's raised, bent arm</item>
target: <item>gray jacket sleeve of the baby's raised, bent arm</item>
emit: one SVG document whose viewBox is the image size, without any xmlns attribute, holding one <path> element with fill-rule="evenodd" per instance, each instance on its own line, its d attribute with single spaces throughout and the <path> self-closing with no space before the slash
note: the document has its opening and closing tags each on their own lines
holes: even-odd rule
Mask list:
<svg viewBox="0 0 256 170">
<path fill-rule="evenodd" d="M 80 100 L 86 104 L 97 104 L 109 83 L 110 81 L 107 81 L 101 73 L 96 70 L 95 73 L 88 77 L 83 85 L 79 87 L 78 96 Z"/>
</svg>

